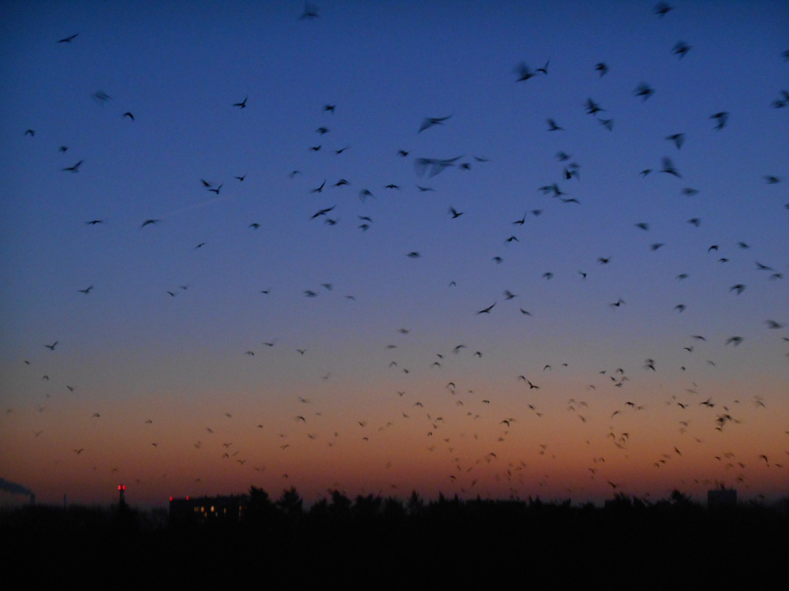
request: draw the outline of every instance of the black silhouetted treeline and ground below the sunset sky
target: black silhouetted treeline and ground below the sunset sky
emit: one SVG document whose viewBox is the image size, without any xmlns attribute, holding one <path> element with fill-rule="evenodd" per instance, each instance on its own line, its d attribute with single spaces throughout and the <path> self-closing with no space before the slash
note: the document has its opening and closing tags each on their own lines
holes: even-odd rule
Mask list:
<svg viewBox="0 0 789 591">
<path fill-rule="evenodd" d="M 32 589 L 787 589 L 786 507 L 710 511 L 679 493 L 653 504 L 621 495 L 604 508 L 335 493 L 307 510 L 295 491 L 272 502 L 252 489 L 240 520 L 3 511 L 0 556 L 6 578 L 19 574 Z"/>
</svg>

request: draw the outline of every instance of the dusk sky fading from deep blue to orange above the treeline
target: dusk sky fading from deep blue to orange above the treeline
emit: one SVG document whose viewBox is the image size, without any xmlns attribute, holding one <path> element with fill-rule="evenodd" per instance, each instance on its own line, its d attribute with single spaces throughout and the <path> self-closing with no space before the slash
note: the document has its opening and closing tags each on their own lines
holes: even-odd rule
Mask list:
<svg viewBox="0 0 789 591">
<path fill-rule="evenodd" d="M 2 2 L 0 477 L 785 496 L 789 6 L 670 6 Z"/>
</svg>

